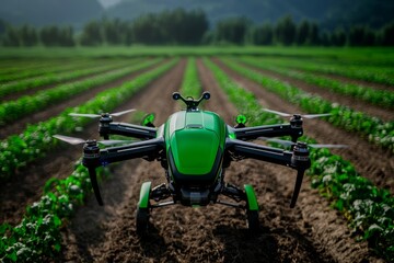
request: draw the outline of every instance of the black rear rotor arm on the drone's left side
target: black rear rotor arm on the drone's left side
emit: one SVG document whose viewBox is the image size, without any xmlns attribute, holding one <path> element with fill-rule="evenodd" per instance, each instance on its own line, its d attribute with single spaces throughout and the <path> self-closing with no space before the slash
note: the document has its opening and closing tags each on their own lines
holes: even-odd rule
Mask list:
<svg viewBox="0 0 394 263">
<path fill-rule="evenodd" d="M 99 132 L 104 138 L 108 135 L 123 135 L 139 139 L 153 139 L 157 137 L 157 128 L 126 123 L 100 125 Z"/>
</svg>

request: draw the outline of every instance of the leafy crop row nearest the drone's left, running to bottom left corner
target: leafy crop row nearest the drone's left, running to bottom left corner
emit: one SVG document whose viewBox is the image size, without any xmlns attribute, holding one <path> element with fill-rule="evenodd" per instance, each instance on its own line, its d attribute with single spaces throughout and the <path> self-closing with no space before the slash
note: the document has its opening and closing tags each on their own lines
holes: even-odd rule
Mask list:
<svg viewBox="0 0 394 263">
<path fill-rule="evenodd" d="M 103 94 L 102 98 L 111 102 L 106 105 L 106 110 L 112 110 L 115 104 L 132 95 L 136 90 L 163 75 L 176 62 L 177 60 L 172 60 L 123 84 L 118 88 L 119 95 L 115 89 Z M 99 108 L 80 107 L 74 110 L 85 113 L 96 112 Z M 70 119 L 70 122 L 74 122 L 74 119 Z M 104 169 L 101 170 L 100 179 L 106 174 Z M 19 226 L 11 227 L 7 224 L 0 226 L 0 236 L 3 237 L 0 240 L 0 259 L 18 262 L 56 258 L 61 250 L 60 227 L 73 215 L 76 208 L 84 203 L 91 192 L 88 171 L 80 162 L 67 179 L 49 180 L 46 183 L 44 196 L 27 208 L 27 213 Z"/>
</svg>

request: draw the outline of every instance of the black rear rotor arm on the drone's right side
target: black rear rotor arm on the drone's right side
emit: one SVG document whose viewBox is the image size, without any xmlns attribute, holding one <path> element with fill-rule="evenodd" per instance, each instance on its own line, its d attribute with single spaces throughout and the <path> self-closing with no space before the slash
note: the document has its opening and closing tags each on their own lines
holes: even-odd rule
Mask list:
<svg viewBox="0 0 394 263">
<path fill-rule="evenodd" d="M 303 129 L 302 127 L 292 124 L 278 124 L 234 128 L 233 133 L 240 140 L 252 140 L 257 139 L 258 137 L 291 136 L 292 140 L 296 141 L 303 135 Z"/>
</svg>

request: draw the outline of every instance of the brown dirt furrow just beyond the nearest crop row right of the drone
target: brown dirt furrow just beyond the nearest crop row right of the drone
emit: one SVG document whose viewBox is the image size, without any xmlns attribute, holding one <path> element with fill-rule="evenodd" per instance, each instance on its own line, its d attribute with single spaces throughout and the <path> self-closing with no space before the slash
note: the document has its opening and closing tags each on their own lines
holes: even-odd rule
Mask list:
<svg viewBox="0 0 394 263">
<path fill-rule="evenodd" d="M 260 84 L 237 75 L 223 64 L 218 64 L 237 83 L 247 87 L 264 107 L 287 113 L 303 113 L 299 107 L 268 92 Z M 394 179 L 392 176 L 394 174 L 394 158 L 390 152 L 369 144 L 357 135 L 355 136 L 354 133 L 336 128 L 322 119 L 305 119 L 303 126 L 305 135 L 321 144 L 348 145 L 349 148 L 333 149 L 332 151 L 350 161 L 362 176 L 370 179 L 379 187 L 387 188 L 392 194 L 394 193 Z"/>
</svg>

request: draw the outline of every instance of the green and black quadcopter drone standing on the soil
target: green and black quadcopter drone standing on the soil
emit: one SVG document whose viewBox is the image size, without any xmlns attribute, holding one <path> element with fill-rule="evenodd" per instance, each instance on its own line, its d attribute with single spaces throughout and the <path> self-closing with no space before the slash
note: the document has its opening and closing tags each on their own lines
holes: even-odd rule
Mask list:
<svg viewBox="0 0 394 263">
<path fill-rule="evenodd" d="M 139 235 L 147 232 L 152 209 L 175 204 L 185 206 L 223 204 L 243 208 L 246 211 L 248 229 L 257 230 L 258 205 L 252 185 L 245 184 L 241 188 L 225 183 L 224 176 L 224 171 L 231 162 L 246 158 L 297 170 L 290 204 L 290 207 L 294 207 L 304 171 L 311 165 L 308 146 L 297 142 L 303 134 L 301 116 L 294 115 L 289 124 L 245 127 L 244 123 L 239 123 L 232 127 L 218 114 L 198 108 L 199 103 L 209 98 L 208 92 L 204 92 L 199 100 L 185 99 L 177 92 L 173 93 L 173 99 L 182 100 L 186 104 L 186 110 L 174 113 L 158 128 L 151 122 L 147 122 L 143 126 L 114 123 L 109 114 L 102 114 L 99 132 L 106 139 L 103 142 L 111 144 L 108 140 L 111 135 L 123 135 L 141 141 L 104 149 L 100 149 L 95 140 L 85 141 L 83 164 L 89 170 L 100 205 L 103 205 L 103 201 L 96 182 L 97 167 L 135 158 L 161 162 L 167 183 L 155 187 L 152 187 L 151 182 L 142 184 L 137 207 Z M 73 116 L 91 115 L 73 114 Z M 278 136 L 292 138 L 290 151 L 247 141 Z M 57 136 L 57 138 L 71 142 L 69 137 Z M 222 201 L 221 196 L 234 202 Z"/>
</svg>

